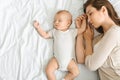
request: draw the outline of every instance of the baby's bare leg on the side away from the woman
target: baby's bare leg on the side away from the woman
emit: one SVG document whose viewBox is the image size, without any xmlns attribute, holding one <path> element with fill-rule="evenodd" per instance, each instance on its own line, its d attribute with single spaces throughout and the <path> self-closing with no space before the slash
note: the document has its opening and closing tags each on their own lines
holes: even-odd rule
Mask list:
<svg viewBox="0 0 120 80">
<path fill-rule="evenodd" d="M 48 80 L 56 80 L 54 72 L 57 69 L 58 69 L 58 63 L 57 63 L 56 58 L 53 57 L 49 61 L 48 65 L 46 67 L 46 75 L 47 75 Z"/>
</svg>

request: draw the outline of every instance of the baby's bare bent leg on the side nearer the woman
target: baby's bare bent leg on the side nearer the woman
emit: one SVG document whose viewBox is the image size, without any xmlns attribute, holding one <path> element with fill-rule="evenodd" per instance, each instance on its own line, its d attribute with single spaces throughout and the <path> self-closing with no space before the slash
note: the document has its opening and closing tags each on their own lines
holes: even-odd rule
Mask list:
<svg viewBox="0 0 120 80">
<path fill-rule="evenodd" d="M 68 74 L 65 76 L 65 80 L 74 80 L 79 75 L 79 68 L 74 60 L 71 60 L 68 67 Z"/>
</svg>

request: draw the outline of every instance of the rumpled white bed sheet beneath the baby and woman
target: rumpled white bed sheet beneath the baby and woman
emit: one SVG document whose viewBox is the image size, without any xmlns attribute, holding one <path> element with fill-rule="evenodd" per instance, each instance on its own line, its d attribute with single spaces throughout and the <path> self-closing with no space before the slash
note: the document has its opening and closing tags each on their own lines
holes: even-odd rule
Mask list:
<svg viewBox="0 0 120 80">
<path fill-rule="evenodd" d="M 83 13 L 82 4 L 83 0 L 0 0 L 0 80 L 47 80 L 44 70 L 53 56 L 52 40 L 38 35 L 33 20 L 47 31 L 56 11 L 69 10 L 74 20 Z M 96 72 L 78 66 L 75 80 L 99 79 Z M 61 80 L 66 73 L 55 74 Z"/>
</svg>

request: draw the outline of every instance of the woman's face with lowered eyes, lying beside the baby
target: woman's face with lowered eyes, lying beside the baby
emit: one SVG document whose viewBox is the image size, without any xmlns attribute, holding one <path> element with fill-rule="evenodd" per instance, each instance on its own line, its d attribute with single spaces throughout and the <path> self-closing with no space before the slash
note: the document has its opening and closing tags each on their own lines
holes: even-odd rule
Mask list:
<svg viewBox="0 0 120 80">
<path fill-rule="evenodd" d="M 89 5 L 86 8 L 86 14 L 88 16 L 88 22 L 92 26 L 94 26 L 95 28 L 102 26 L 102 23 L 104 22 L 105 18 L 102 8 L 100 10 L 97 10 L 96 8 Z"/>
</svg>

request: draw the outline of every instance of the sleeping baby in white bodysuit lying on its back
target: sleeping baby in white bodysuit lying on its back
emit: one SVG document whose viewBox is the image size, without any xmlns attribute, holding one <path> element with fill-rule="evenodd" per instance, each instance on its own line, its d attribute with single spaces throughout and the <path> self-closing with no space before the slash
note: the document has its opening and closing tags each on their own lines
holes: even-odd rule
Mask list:
<svg viewBox="0 0 120 80">
<path fill-rule="evenodd" d="M 73 80 L 79 75 L 75 59 L 75 40 L 76 36 L 85 30 L 85 27 L 70 29 L 71 24 L 72 15 L 67 10 L 60 10 L 55 14 L 54 28 L 48 32 L 43 31 L 39 23 L 34 21 L 34 27 L 43 38 L 54 39 L 54 56 L 46 67 L 48 80 L 56 80 L 55 70 L 68 71 L 63 80 Z"/>
</svg>

